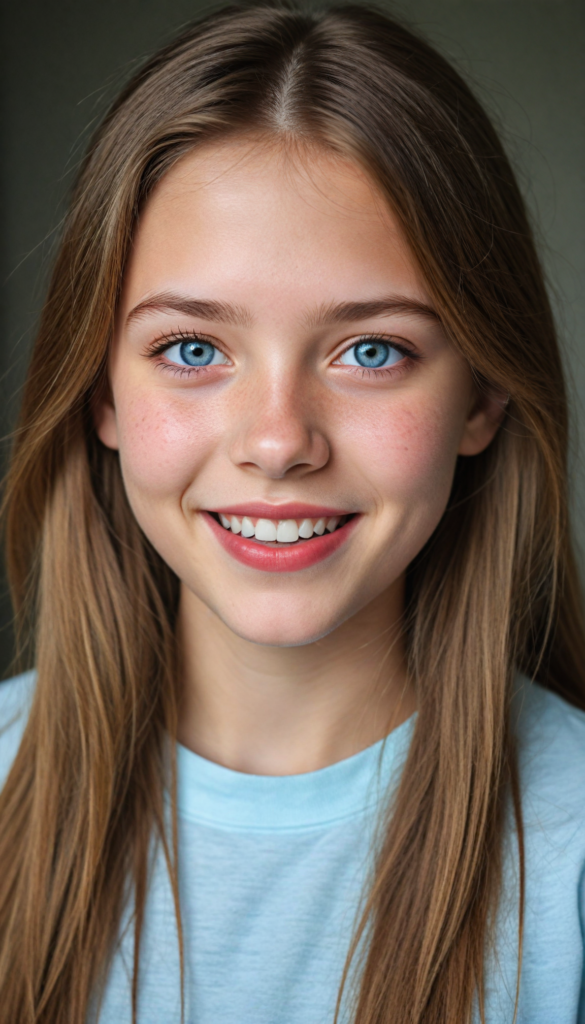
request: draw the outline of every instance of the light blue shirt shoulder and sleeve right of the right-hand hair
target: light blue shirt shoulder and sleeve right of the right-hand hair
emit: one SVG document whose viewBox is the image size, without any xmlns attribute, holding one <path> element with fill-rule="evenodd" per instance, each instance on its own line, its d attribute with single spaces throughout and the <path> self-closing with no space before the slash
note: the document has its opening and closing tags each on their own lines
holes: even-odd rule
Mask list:
<svg viewBox="0 0 585 1024">
<path fill-rule="evenodd" d="M 585 713 L 518 677 L 512 702 L 525 852 L 518 1021 L 581 1021 L 585 921 Z M 511 811 L 511 809 L 510 809 Z M 506 843 L 498 964 L 490 1021 L 513 1017 L 519 863 L 515 824 Z M 500 1012 L 505 1006 L 506 1015 Z M 506 1016 L 507 1019 L 507 1016 Z M 584 1019 L 585 1024 L 585 1019 Z"/>
</svg>

